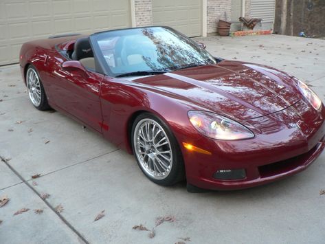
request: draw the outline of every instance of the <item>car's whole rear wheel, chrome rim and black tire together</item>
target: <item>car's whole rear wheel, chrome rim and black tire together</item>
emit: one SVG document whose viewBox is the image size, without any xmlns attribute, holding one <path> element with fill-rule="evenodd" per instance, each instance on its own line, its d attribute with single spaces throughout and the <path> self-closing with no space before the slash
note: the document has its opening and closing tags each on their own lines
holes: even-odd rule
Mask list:
<svg viewBox="0 0 325 244">
<path fill-rule="evenodd" d="M 36 109 L 44 111 L 50 109 L 45 90 L 36 68 L 30 65 L 26 72 L 26 85 L 30 101 Z"/>
</svg>

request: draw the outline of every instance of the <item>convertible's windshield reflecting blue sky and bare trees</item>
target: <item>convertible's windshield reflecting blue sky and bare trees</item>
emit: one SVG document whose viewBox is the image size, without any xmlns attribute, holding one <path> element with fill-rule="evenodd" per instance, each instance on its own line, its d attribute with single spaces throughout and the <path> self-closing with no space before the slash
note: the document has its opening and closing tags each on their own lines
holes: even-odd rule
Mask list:
<svg viewBox="0 0 325 244">
<path fill-rule="evenodd" d="M 167 27 L 143 27 L 93 34 L 92 41 L 111 76 L 159 74 L 216 60 L 194 41 Z"/>
</svg>

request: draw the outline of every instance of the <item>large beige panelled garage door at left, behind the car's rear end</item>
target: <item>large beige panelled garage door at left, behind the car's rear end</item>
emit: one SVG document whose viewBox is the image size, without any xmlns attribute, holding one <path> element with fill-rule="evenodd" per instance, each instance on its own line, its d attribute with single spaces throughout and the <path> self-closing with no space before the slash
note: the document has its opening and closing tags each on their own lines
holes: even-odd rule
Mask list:
<svg viewBox="0 0 325 244">
<path fill-rule="evenodd" d="M 0 65 L 17 63 L 25 41 L 130 26 L 129 0 L 0 0 Z"/>
</svg>

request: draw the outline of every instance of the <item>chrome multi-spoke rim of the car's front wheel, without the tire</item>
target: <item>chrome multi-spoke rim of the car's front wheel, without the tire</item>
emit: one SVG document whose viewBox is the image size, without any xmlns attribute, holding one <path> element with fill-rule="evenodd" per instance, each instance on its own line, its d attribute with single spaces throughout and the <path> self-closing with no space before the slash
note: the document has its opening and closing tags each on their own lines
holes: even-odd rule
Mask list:
<svg viewBox="0 0 325 244">
<path fill-rule="evenodd" d="M 172 168 L 172 147 L 166 131 L 155 120 L 145 118 L 135 126 L 135 155 L 146 175 L 165 179 Z"/>
</svg>

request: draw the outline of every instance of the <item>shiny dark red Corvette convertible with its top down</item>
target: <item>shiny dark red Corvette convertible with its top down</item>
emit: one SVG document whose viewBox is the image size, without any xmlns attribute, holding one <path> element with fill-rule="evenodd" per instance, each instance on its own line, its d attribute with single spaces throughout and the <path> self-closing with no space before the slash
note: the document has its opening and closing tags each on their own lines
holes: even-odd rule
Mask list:
<svg viewBox="0 0 325 244">
<path fill-rule="evenodd" d="M 304 170 L 324 149 L 324 105 L 302 81 L 215 58 L 170 27 L 31 41 L 20 65 L 36 109 L 98 131 L 162 186 L 258 186 Z"/>
</svg>

